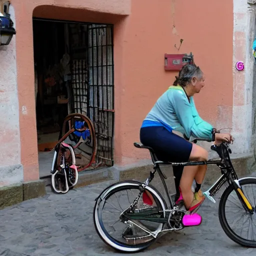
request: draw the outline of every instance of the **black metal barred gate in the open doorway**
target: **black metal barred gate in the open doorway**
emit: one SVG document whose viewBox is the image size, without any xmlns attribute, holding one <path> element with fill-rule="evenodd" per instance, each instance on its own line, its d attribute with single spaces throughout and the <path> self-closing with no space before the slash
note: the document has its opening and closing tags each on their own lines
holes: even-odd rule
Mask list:
<svg viewBox="0 0 256 256">
<path fill-rule="evenodd" d="M 95 167 L 113 165 L 114 85 L 113 27 L 69 24 L 73 111 L 95 127 Z"/>
</svg>

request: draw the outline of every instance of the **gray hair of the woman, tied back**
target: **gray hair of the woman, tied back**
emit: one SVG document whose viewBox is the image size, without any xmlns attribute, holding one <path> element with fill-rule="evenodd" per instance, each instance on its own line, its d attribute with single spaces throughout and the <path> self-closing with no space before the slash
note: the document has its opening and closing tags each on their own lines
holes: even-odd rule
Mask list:
<svg viewBox="0 0 256 256">
<path fill-rule="evenodd" d="M 175 76 L 176 80 L 173 82 L 173 85 L 177 86 L 179 84 L 180 86 L 186 86 L 191 82 L 193 76 L 200 80 L 202 75 L 203 73 L 199 66 L 195 64 L 185 64 L 180 69 L 178 76 Z"/>
</svg>

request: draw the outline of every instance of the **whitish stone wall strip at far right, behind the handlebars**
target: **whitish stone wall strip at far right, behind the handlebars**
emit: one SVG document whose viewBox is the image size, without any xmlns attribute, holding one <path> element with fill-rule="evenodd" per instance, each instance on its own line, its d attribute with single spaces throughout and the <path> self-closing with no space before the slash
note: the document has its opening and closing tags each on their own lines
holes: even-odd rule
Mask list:
<svg viewBox="0 0 256 256">
<path fill-rule="evenodd" d="M 251 0 L 250 0 L 251 1 Z M 251 154 L 254 59 L 251 46 L 255 36 L 255 6 L 247 0 L 233 0 L 233 112 L 234 154 Z M 244 70 L 235 68 L 243 61 Z"/>
</svg>

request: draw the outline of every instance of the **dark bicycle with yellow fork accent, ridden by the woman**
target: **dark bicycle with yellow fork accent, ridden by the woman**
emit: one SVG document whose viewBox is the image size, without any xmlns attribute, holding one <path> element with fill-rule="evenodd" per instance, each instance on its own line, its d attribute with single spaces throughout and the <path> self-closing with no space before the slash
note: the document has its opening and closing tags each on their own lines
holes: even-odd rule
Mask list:
<svg viewBox="0 0 256 256">
<path fill-rule="evenodd" d="M 192 141 L 196 143 L 198 140 L 205 139 L 195 138 Z M 169 194 L 164 180 L 166 179 L 166 176 L 161 171 L 160 166 L 216 164 L 220 168 L 221 176 L 208 190 L 204 192 L 204 195 L 211 201 L 215 202 L 213 196 L 224 184 L 227 184 L 227 188 L 221 195 L 218 208 L 218 217 L 221 227 L 226 235 L 234 242 L 242 246 L 256 247 L 256 234 L 254 238 L 253 225 L 251 226 L 252 239 L 249 240 L 249 229 L 247 231 L 247 238 L 243 238 L 241 236 L 243 231 L 240 232 L 239 230 L 239 233 L 238 231 L 234 231 L 234 227 L 230 226 L 230 223 L 227 221 L 228 211 L 226 211 L 225 208 L 230 201 L 229 196 L 231 196 L 233 199 L 237 200 L 235 206 L 245 212 L 243 217 L 241 217 L 243 218 L 242 222 L 244 220 L 244 216 L 247 216 L 249 218 L 249 222 L 250 220 L 251 222 L 254 220 L 254 225 L 256 224 L 255 199 L 251 200 L 248 197 L 248 193 L 244 192 L 246 185 L 255 185 L 256 187 L 256 178 L 245 177 L 238 179 L 229 157 L 229 154 L 231 153 L 229 143 L 222 142 L 219 145 L 211 145 L 211 150 L 217 152 L 220 157 L 219 159 L 211 159 L 208 161 L 188 161 L 182 163 L 159 161 L 152 148 L 136 142 L 134 143 L 134 146 L 149 150 L 153 163 L 153 171 L 150 171 L 149 177 L 144 182 L 127 180 L 111 184 L 95 199 L 96 202 L 93 210 L 94 226 L 98 235 L 106 244 L 119 251 L 137 252 L 151 245 L 156 238 L 162 234 L 184 228 L 185 226 L 182 224 L 182 217 L 184 216 L 185 211 L 173 203 L 173 199 L 171 197 L 174 196 L 174 194 Z M 169 207 L 157 189 L 152 185 L 149 185 L 156 172 L 159 174 L 160 180 L 163 184 Z M 135 190 L 135 193 L 133 194 L 134 197 L 131 197 L 130 192 L 128 193 L 128 191 L 131 190 Z M 255 188 L 251 189 L 252 195 L 254 195 L 254 190 Z M 151 194 L 155 205 L 150 206 L 143 203 L 141 195 L 144 191 Z M 120 199 L 120 196 L 122 195 L 124 195 L 125 198 L 127 197 L 127 204 L 124 203 L 123 199 Z M 111 198 L 116 202 L 110 203 L 108 200 Z M 107 206 L 110 207 L 110 209 L 106 214 L 104 214 L 103 209 Z M 117 213 L 116 218 L 113 219 L 112 216 L 110 217 L 111 214 L 115 213 Z M 107 219 L 106 223 L 103 223 L 104 216 L 106 216 Z M 233 219 L 234 216 L 236 220 L 235 225 L 237 226 L 239 222 L 238 218 L 236 218 L 236 215 L 232 213 L 231 218 Z M 114 223 L 112 223 L 113 221 Z M 247 223 L 248 221 L 243 222 L 242 226 L 245 227 Z M 106 224 L 110 224 L 110 231 L 106 229 Z M 120 235 L 117 235 L 116 238 L 114 237 L 114 232 L 117 231 L 118 225 L 121 225 L 121 233 Z"/>
</svg>

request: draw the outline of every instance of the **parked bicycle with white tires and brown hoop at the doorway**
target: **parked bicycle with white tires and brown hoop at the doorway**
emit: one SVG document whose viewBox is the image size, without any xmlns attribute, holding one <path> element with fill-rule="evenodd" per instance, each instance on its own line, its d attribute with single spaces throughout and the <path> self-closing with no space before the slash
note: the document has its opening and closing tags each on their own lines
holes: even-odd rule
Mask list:
<svg viewBox="0 0 256 256">
<path fill-rule="evenodd" d="M 69 143 L 64 141 L 69 139 Z M 78 172 L 88 168 L 95 158 L 95 130 L 91 120 L 82 114 L 68 114 L 54 147 L 51 165 L 51 189 L 67 193 L 78 181 Z M 80 159 L 80 164 L 77 163 Z"/>
</svg>

